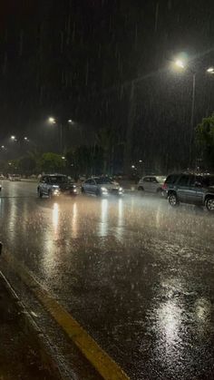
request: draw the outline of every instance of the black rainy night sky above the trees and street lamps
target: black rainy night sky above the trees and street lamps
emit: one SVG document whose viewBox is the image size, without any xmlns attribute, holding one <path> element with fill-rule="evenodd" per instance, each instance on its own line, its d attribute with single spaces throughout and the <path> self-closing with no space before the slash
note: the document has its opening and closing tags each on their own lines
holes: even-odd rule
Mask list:
<svg viewBox="0 0 214 380">
<path fill-rule="evenodd" d="M 130 81 L 141 77 L 133 159 L 185 162 L 191 73 L 170 60 L 185 52 L 198 72 L 197 123 L 214 110 L 212 1 L 3 0 L 0 12 L 2 141 L 27 133 L 39 143 L 50 114 L 79 122 L 83 141 L 103 127 L 125 141 Z"/>
</svg>

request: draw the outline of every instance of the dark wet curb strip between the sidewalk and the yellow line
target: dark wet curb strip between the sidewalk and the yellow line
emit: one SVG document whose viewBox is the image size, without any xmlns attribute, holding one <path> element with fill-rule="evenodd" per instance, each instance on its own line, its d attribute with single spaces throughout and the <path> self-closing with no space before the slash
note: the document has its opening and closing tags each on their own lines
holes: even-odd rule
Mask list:
<svg viewBox="0 0 214 380">
<path fill-rule="evenodd" d="M 2 279 L 5 291 L 13 302 L 13 307 L 17 310 L 20 316 L 20 325 L 26 334 L 31 336 L 34 341 L 34 347 L 41 357 L 42 363 L 50 375 L 53 375 L 57 380 L 71 380 L 71 374 L 68 374 L 66 369 L 61 363 L 60 359 L 54 358 L 55 353 L 50 342 L 45 338 L 42 330 L 36 325 L 34 318 L 24 307 L 23 302 L 15 293 L 15 289 L 10 285 L 4 274 L 0 271 L 0 278 Z"/>
</svg>

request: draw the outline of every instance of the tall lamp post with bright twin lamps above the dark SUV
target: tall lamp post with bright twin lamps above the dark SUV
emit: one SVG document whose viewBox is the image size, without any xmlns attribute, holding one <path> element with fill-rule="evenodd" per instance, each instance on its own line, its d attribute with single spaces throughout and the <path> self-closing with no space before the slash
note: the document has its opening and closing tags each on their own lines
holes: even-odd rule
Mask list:
<svg viewBox="0 0 214 380">
<path fill-rule="evenodd" d="M 178 59 L 175 62 L 175 65 L 181 70 L 188 68 L 187 64 L 184 61 Z M 207 73 L 214 74 L 214 68 L 209 67 L 206 70 Z M 193 140 L 193 130 L 194 130 L 194 113 L 195 113 L 195 97 L 196 97 L 196 71 L 193 71 L 189 68 L 189 72 L 192 74 L 192 93 L 191 93 L 191 114 L 190 114 L 190 151 L 189 151 L 189 167 L 192 159 L 192 140 Z"/>
</svg>

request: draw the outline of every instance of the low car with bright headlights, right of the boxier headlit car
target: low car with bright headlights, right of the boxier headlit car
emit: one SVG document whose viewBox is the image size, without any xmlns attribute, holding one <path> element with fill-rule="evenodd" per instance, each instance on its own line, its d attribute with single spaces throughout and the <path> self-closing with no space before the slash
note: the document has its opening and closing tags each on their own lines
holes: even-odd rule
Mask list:
<svg viewBox="0 0 214 380">
<path fill-rule="evenodd" d="M 81 188 L 83 193 L 95 194 L 98 197 L 108 195 L 123 195 L 123 189 L 119 183 L 109 177 L 93 177 L 85 180 Z"/>
</svg>

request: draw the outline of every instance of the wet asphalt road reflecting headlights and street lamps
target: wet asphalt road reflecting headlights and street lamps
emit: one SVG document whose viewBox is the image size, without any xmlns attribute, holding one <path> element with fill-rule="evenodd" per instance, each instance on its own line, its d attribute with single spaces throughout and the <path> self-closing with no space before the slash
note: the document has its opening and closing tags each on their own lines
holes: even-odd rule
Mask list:
<svg viewBox="0 0 214 380">
<path fill-rule="evenodd" d="M 214 379 L 213 215 L 3 186 L 0 239 L 131 379 Z"/>
</svg>

